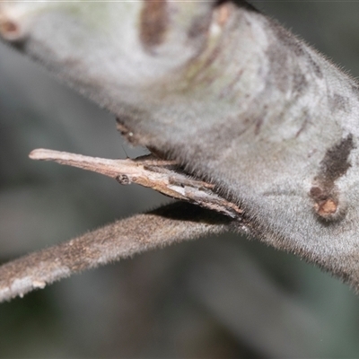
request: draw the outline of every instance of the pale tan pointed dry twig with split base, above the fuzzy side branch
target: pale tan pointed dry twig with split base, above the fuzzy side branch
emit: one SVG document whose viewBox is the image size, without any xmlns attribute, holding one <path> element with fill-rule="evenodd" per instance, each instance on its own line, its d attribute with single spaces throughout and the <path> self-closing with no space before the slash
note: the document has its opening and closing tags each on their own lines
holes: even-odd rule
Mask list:
<svg viewBox="0 0 359 359">
<path fill-rule="evenodd" d="M 83 170 L 95 171 L 124 185 L 136 183 L 153 188 L 163 195 L 188 201 L 232 218 L 240 218 L 242 215 L 239 206 L 215 193 L 214 185 L 189 177 L 181 171 L 176 162 L 158 160 L 152 155 L 139 157 L 136 160 L 108 160 L 82 154 L 37 149 L 30 153 L 30 158 L 55 161 Z"/>
</svg>

